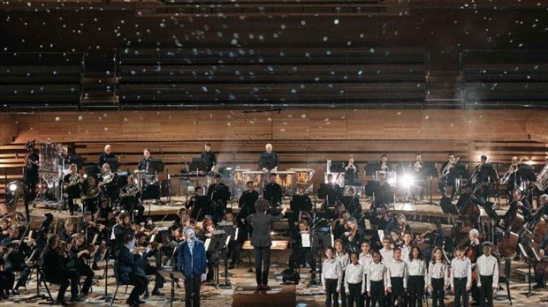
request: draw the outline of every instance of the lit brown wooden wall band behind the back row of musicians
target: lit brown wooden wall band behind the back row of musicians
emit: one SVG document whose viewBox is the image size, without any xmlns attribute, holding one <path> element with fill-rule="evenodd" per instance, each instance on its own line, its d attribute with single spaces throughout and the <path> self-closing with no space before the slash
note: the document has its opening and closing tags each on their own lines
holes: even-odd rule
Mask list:
<svg viewBox="0 0 548 307">
<path fill-rule="evenodd" d="M 149 147 L 164 158 L 170 173 L 199 156 L 206 141 L 213 143 L 220 167 L 255 169 L 259 153 L 270 142 L 280 154 L 280 170 L 313 168 L 315 183 L 323 180 L 326 160 L 346 161 L 349 153 L 361 166 L 378 161 L 382 153 L 392 161 L 413 161 L 416 152 L 422 152 L 425 161 L 445 161 L 446 153 L 454 152 L 471 165 L 481 154 L 504 163 L 519 155 L 540 165 L 547 153 L 547 114 L 369 109 L 286 109 L 247 117 L 236 110 L 17 114 L 11 116 L 17 137 L 0 147 L 0 166 L 11 169 L 4 174 L 20 174 L 15 168 L 22 165 L 21 155 L 15 153 L 22 153 L 30 139 L 73 143 L 77 153 L 93 162 L 110 143 L 122 156 L 122 168 L 130 170 Z M 501 164 L 499 171 L 505 170 Z"/>
</svg>

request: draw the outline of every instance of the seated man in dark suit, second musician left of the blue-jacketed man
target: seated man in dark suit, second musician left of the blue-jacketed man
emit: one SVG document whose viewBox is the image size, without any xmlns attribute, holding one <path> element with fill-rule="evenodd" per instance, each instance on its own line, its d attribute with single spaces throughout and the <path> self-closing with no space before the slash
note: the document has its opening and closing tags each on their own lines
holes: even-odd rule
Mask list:
<svg viewBox="0 0 548 307">
<path fill-rule="evenodd" d="M 133 247 L 135 246 L 135 236 L 128 234 L 124 237 L 123 245 L 118 251 L 115 270 L 118 270 L 118 281 L 133 285 L 133 290 L 129 294 L 126 303 L 132 307 L 139 306 L 144 303 L 139 299 L 139 295 L 145 290 L 145 285 L 148 282 L 147 276 L 139 273 L 136 265 L 138 255 L 133 255 Z"/>
</svg>

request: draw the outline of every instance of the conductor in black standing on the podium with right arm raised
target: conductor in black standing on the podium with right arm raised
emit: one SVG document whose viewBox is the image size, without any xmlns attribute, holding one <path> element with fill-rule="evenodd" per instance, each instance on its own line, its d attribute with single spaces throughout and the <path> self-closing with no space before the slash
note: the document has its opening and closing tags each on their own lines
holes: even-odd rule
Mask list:
<svg viewBox="0 0 548 307">
<path fill-rule="evenodd" d="M 270 228 L 273 222 L 280 221 L 284 217 L 286 208 L 283 208 L 278 215 L 267 214 L 269 210 L 269 201 L 258 199 L 255 203 L 256 213 L 247 217 L 247 222 L 253 228 L 251 245 L 255 251 L 255 278 L 259 291 L 270 289 L 268 286 L 270 246 L 272 245 Z"/>
</svg>

